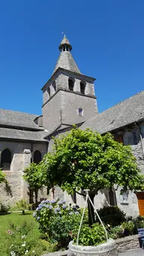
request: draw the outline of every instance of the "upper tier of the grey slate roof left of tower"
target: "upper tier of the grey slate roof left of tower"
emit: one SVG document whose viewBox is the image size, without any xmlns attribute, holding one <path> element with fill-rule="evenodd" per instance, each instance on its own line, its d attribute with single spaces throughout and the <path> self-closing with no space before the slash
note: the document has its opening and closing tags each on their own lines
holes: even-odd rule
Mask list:
<svg viewBox="0 0 144 256">
<path fill-rule="evenodd" d="M 23 113 L 13 110 L 0 109 L 0 126 L 11 126 L 19 128 L 28 128 L 31 130 L 43 130 L 35 122 L 37 115 Z"/>
</svg>

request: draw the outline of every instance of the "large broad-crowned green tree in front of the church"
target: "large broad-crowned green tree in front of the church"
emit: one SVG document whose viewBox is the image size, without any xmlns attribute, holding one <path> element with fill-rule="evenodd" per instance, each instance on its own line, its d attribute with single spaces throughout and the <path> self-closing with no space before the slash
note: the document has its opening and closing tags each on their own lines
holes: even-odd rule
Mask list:
<svg viewBox="0 0 144 256">
<path fill-rule="evenodd" d="M 113 185 L 130 191 L 144 189 L 144 176 L 130 146 L 116 142 L 109 133 L 101 136 L 75 127 L 66 136 L 54 139 L 53 152 L 45 155 L 41 167 L 50 184 L 58 184 L 69 194 L 88 188 L 92 201 L 98 191 Z M 90 211 L 94 219 L 89 206 L 92 224 Z"/>
</svg>

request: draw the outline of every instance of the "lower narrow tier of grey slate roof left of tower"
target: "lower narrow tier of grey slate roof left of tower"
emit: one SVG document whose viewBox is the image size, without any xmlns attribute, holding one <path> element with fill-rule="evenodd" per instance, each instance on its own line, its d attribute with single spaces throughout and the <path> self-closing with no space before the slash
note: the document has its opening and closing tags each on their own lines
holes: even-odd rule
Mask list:
<svg viewBox="0 0 144 256">
<path fill-rule="evenodd" d="M 46 131 L 23 131 L 13 128 L 0 127 L 0 139 L 13 139 L 13 140 L 31 140 L 43 142 L 46 137 Z"/>
</svg>

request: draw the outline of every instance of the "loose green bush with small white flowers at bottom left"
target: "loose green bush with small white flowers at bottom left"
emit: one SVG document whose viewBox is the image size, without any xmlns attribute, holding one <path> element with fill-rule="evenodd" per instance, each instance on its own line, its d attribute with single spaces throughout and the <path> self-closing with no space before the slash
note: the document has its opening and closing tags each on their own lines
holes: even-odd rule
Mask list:
<svg viewBox="0 0 144 256">
<path fill-rule="evenodd" d="M 24 221 L 19 226 L 10 224 L 7 230 L 7 255 L 9 256 L 39 256 L 45 250 L 45 245 L 37 241 L 31 235 L 32 224 Z"/>
</svg>

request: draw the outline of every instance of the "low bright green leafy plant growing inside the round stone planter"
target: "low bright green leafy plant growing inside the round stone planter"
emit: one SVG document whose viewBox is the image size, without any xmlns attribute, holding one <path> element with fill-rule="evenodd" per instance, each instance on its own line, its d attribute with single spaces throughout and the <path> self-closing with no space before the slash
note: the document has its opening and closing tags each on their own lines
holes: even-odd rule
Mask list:
<svg viewBox="0 0 144 256">
<path fill-rule="evenodd" d="M 73 239 L 74 242 L 77 242 L 77 232 L 73 230 Z M 83 224 L 80 230 L 79 244 L 80 245 L 99 245 L 103 242 L 106 242 L 106 234 L 104 228 L 101 224 L 95 223 L 92 224 L 92 227 L 89 227 L 88 224 Z"/>
</svg>

